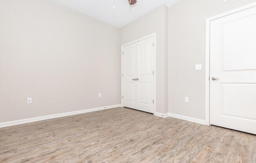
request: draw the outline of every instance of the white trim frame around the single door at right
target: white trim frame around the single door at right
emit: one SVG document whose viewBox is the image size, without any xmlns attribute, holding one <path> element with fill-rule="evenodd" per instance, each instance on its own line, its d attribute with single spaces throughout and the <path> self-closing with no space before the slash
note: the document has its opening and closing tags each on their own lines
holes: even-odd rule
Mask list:
<svg viewBox="0 0 256 163">
<path fill-rule="evenodd" d="M 238 13 L 240 11 L 256 7 L 256 2 L 232 9 L 225 13 L 221 13 L 206 19 L 206 34 L 205 34 L 205 125 L 210 125 L 210 22 L 228 16 L 230 14 Z"/>
</svg>

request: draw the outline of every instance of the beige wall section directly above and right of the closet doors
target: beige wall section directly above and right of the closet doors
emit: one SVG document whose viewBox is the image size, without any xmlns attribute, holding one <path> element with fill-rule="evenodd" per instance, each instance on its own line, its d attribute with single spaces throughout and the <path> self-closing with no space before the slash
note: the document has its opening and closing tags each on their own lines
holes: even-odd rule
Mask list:
<svg viewBox="0 0 256 163">
<path fill-rule="evenodd" d="M 120 29 L 121 45 L 156 33 L 156 112 L 168 112 L 168 7 L 161 5 Z"/>
</svg>

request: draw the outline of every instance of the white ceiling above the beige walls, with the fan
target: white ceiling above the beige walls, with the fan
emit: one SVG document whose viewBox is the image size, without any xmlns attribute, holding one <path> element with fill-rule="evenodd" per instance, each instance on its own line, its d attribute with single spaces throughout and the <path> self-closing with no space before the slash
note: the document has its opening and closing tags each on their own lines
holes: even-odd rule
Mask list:
<svg viewBox="0 0 256 163">
<path fill-rule="evenodd" d="M 170 6 L 178 1 L 180 0 L 137 0 L 137 4 L 130 6 L 128 0 L 53 0 L 53 2 L 119 28 L 160 5 Z"/>
</svg>

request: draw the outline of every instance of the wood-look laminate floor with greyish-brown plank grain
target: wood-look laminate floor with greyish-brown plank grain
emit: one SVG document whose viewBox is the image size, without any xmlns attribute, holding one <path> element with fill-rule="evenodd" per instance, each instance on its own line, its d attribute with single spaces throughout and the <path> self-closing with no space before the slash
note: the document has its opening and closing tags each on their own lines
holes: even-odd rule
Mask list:
<svg viewBox="0 0 256 163">
<path fill-rule="evenodd" d="M 256 136 L 115 108 L 0 129 L 1 163 L 256 163 Z"/>
</svg>

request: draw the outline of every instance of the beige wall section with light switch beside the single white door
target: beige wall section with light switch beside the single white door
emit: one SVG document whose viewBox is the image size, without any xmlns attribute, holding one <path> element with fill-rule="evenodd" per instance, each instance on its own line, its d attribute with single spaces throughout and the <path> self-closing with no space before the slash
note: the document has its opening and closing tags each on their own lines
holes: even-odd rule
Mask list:
<svg viewBox="0 0 256 163">
<path fill-rule="evenodd" d="M 182 0 L 169 7 L 169 112 L 205 120 L 205 19 L 251 2 Z M 195 71 L 199 63 L 203 70 Z"/>
</svg>

